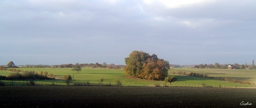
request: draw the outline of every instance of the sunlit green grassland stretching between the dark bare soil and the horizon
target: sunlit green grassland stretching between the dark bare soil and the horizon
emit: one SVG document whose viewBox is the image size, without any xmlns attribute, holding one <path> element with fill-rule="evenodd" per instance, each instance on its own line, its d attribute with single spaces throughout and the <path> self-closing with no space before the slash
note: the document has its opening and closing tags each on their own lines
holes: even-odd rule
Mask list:
<svg viewBox="0 0 256 108">
<path fill-rule="evenodd" d="M 169 83 L 164 81 L 151 81 L 151 80 L 143 80 L 134 78 L 131 76 L 127 76 L 124 74 L 123 70 L 114 70 L 114 69 L 99 69 L 99 68 L 82 68 L 82 71 L 79 74 L 76 71 L 71 71 L 70 68 L 19 68 L 20 70 L 28 70 L 28 71 L 46 71 L 48 74 L 54 75 L 66 75 L 70 74 L 73 77 L 71 83 L 79 83 L 81 85 L 86 84 L 89 82 L 90 84 L 99 84 L 100 79 L 103 78 L 103 85 L 115 85 L 117 80 L 120 80 L 122 86 L 169 86 Z M 171 69 L 169 72 L 178 72 L 184 71 L 187 73 L 190 72 L 219 72 L 219 73 L 226 73 L 226 74 L 211 74 L 209 76 L 214 77 L 228 77 L 228 78 L 238 78 L 239 80 L 248 80 L 254 81 L 255 80 L 255 70 L 222 70 L 222 69 Z M 234 72 L 235 71 L 235 72 Z M 239 73 L 245 74 L 239 74 Z M 7 76 L 10 72 L 9 71 L 0 71 L 0 75 Z M 172 82 L 171 86 L 185 86 L 185 87 L 200 87 L 202 83 L 206 84 L 206 86 L 211 87 L 254 87 L 252 85 L 244 85 L 238 83 L 232 83 L 227 81 L 220 81 L 208 78 L 198 78 L 198 77 L 190 77 L 190 76 L 182 76 L 176 75 L 177 81 Z M 11 84 L 11 81 L 4 81 L 6 84 Z M 35 81 L 37 85 L 65 85 L 63 80 L 37 80 Z M 58 84 L 57 84 L 58 82 Z M 23 81 L 15 81 L 15 85 L 23 85 Z"/>
</svg>

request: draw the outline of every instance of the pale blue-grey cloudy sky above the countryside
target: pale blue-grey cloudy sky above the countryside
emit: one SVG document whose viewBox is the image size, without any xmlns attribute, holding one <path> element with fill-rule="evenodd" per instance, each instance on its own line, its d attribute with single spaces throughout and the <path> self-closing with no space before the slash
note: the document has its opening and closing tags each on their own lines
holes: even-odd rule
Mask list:
<svg viewBox="0 0 256 108">
<path fill-rule="evenodd" d="M 0 65 L 252 64 L 255 0 L 1 0 Z"/>
</svg>

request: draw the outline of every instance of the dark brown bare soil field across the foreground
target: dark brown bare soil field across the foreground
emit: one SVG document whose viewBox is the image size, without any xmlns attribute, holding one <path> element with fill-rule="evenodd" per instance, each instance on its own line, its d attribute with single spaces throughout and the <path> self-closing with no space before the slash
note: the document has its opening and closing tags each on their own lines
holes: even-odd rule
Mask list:
<svg viewBox="0 0 256 108">
<path fill-rule="evenodd" d="M 242 103 L 251 105 L 240 105 Z M 255 88 L 2 86 L 0 108 L 256 108 Z"/>
</svg>

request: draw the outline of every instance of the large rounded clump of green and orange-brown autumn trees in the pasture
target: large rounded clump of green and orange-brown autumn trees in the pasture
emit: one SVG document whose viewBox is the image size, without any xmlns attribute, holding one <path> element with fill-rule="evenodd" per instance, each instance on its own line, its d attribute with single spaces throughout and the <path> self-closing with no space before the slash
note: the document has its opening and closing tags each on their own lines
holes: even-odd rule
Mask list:
<svg viewBox="0 0 256 108">
<path fill-rule="evenodd" d="M 133 51 L 129 57 L 125 58 L 126 75 L 147 80 L 164 80 L 170 69 L 169 62 L 157 58 L 157 55 L 149 55 L 143 51 Z"/>
</svg>

